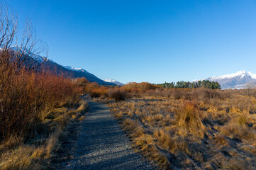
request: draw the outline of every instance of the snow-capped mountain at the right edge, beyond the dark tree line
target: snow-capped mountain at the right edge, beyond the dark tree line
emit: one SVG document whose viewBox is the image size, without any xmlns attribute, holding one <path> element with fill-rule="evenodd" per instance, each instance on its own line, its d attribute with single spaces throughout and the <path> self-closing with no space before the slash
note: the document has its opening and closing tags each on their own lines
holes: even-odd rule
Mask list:
<svg viewBox="0 0 256 170">
<path fill-rule="evenodd" d="M 256 85 L 256 74 L 253 74 L 252 72 L 245 72 L 245 70 L 243 70 L 233 74 L 208 77 L 200 80 L 217 81 L 221 84 L 221 89 L 246 89 L 248 86 Z"/>
</svg>

